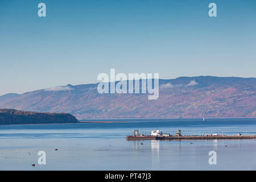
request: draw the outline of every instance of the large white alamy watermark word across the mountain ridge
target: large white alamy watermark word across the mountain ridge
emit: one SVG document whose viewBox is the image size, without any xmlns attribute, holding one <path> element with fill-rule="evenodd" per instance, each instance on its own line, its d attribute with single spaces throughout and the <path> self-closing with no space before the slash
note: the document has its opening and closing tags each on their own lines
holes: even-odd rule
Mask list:
<svg viewBox="0 0 256 182">
<path fill-rule="evenodd" d="M 156 100 L 159 96 L 159 73 L 129 73 L 128 77 L 125 73 L 115 75 L 115 69 L 110 69 L 110 77 L 107 73 L 100 73 L 97 80 L 98 93 L 148 93 L 148 100 Z M 154 87 L 153 87 L 154 82 Z M 127 87 L 128 84 L 128 87 Z"/>
</svg>

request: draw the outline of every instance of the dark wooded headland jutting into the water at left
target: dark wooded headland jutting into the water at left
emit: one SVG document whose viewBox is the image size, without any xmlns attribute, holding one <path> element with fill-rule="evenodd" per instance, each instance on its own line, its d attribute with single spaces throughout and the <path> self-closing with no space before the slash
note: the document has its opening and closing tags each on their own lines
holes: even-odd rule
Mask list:
<svg viewBox="0 0 256 182">
<path fill-rule="evenodd" d="M 36 113 L 14 109 L 0 109 L 0 125 L 76 123 L 77 119 L 65 113 Z"/>
</svg>

